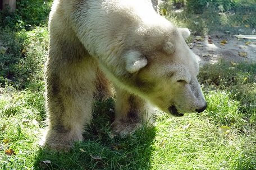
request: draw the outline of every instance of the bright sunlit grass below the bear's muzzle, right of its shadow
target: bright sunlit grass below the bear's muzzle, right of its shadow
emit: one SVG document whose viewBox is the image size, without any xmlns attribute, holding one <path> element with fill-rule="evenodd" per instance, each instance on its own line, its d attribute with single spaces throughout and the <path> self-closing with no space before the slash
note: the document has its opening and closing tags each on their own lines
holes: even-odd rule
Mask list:
<svg viewBox="0 0 256 170">
<path fill-rule="evenodd" d="M 158 122 L 152 169 L 243 168 L 239 161 L 246 155 L 244 148 L 249 141 L 246 135 L 237 133 L 233 126 L 228 134 L 221 134 L 218 128 L 219 125 L 196 115 L 181 119 L 167 117 Z M 255 154 L 250 158 L 249 164 L 255 167 Z"/>
</svg>

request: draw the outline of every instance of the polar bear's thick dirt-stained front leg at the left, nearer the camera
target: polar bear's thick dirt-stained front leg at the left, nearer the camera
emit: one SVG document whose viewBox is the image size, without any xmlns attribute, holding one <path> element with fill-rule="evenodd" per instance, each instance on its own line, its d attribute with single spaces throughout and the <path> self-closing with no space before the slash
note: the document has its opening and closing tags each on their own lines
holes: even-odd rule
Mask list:
<svg viewBox="0 0 256 170">
<path fill-rule="evenodd" d="M 87 57 L 56 65 L 51 59 L 46 70 L 48 130 L 44 141 L 52 149 L 68 150 L 74 141 L 83 140 L 84 126 L 92 120 L 95 63 Z"/>
</svg>

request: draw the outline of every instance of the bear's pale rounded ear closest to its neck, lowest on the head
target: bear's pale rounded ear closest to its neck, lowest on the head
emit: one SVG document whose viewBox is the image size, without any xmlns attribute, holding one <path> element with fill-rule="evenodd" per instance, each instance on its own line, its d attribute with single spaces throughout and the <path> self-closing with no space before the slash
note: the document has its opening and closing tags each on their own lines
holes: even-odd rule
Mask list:
<svg viewBox="0 0 256 170">
<path fill-rule="evenodd" d="M 148 60 L 139 52 L 129 50 L 124 54 L 125 58 L 125 69 L 129 73 L 138 72 L 141 68 L 148 64 Z"/>
</svg>

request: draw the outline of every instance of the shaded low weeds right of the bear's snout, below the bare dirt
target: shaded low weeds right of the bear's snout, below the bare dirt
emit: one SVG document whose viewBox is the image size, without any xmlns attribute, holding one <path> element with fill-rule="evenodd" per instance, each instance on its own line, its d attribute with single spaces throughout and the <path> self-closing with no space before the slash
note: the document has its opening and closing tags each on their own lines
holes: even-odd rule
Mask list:
<svg viewBox="0 0 256 170">
<path fill-rule="evenodd" d="M 217 72 L 217 70 L 222 70 L 222 72 Z M 204 83 L 205 87 L 229 91 L 232 99 L 240 102 L 240 110 L 247 112 L 246 110 L 253 109 L 256 106 L 255 74 L 255 63 L 234 64 L 221 61 L 214 65 L 204 65 L 198 78 L 199 81 Z M 248 114 L 250 114 L 250 111 Z"/>
</svg>

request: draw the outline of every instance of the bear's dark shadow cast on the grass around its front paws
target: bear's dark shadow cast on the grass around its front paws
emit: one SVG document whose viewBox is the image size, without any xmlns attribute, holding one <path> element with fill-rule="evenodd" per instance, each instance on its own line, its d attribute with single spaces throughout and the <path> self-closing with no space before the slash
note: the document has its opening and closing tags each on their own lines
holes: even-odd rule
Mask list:
<svg viewBox="0 0 256 170">
<path fill-rule="evenodd" d="M 83 142 L 68 153 L 39 149 L 35 169 L 150 169 L 155 128 L 143 126 L 126 138 L 113 137 L 113 100 L 96 103 L 94 112 Z"/>
</svg>

